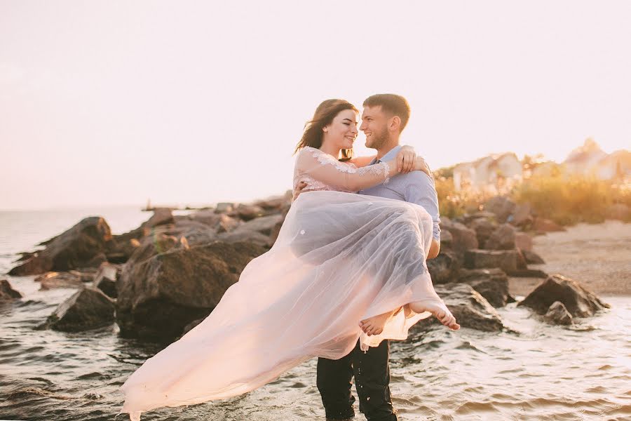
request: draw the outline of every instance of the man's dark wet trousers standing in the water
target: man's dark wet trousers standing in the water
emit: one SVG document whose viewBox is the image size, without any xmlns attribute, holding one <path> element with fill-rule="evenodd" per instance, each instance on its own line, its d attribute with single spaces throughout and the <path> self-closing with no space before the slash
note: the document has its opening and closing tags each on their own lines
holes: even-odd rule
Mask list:
<svg viewBox="0 0 631 421">
<path fill-rule="evenodd" d="M 390 397 L 390 342 L 367 352 L 355 349 L 339 360 L 318 359 L 318 390 L 322 396 L 327 418 L 342 420 L 355 416 L 351 393 L 351 379 L 360 399 L 360 411 L 368 421 L 396 421 L 397 415 Z"/>
</svg>

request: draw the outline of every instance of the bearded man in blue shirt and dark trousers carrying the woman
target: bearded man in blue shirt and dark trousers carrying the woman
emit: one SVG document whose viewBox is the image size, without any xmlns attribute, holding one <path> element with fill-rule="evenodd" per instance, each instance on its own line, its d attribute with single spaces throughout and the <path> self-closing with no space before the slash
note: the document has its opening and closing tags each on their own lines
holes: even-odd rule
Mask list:
<svg viewBox="0 0 631 421">
<path fill-rule="evenodd" d="M 366 146 L 376 149 L 371 164 L 394 159 L 401 148 L 399 138 L 409 120 L 409 105 L 400 95 L 372 95 L 364 101 L 360 130 L 366 135 Z M 386 184 L 358 192 L 417 203 L 433 219 L 433 240 L 428 259 L 440 251 L 438 198 L 433 179 L 421 171 L 395 175 Z M 362 352 L 358 344 L 339 360 L 318 359 L 318 390 L 322 396 L 327 420 L 348 420 L 355 416 L 351 381 L 360 399 L 360 411 L 368 421 L 398 420 L 390 396 L 390 342 Z"/>
</svg>

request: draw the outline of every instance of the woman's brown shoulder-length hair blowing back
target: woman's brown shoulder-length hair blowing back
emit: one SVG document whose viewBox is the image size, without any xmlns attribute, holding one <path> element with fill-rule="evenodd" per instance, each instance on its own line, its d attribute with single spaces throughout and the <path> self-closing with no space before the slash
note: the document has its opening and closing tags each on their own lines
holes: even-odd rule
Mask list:
<svg viewBox="0 0 631 421">
<path fill-rule="evenodd" d="M 307 123 L 304 125 L 302 138 L 300 139 L 300 142 L 298 142 L 294 154 L 305 146 L 311 146 L 315 147 L 315 149 L 320 149 L 320 147 L 322 146 L 322 139 L 324 137 L 322 129 L 332 123 L 335 116 L 337 116 L 337 114 L 344 111 L 345 109 L 352 109 L 354 112 L 359 114 L 358 109 L 355 108 L 355 106 L 351 104 L 351 102 L 345 100 L 325 100 L 320 105 L 318 105 L 318 108 L 315 109 L 315 113 L 313 114 L 313 119 L 311 119 L 311 121 L 307 121 Z M 352 158 L 352 148 L 341 149 L 340 161 L 348 161 Z"/>
</svg>

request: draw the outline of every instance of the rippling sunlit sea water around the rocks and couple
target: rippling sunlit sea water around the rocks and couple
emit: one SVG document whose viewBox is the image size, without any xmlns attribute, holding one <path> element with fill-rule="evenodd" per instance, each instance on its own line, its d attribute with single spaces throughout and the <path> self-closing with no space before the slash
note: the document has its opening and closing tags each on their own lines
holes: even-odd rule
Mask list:
<svg viewBox="0 0 631 421">
<path fill-rule="evenodd" d="M 137 208 L 0 211 L 0 272 L 89 215 L 116 234 L 149 218 Z M 163 345 L 118 337 L 116 324 L 82 333 L 34 330 L 75 290 L 39 290 L 11 277 L 24 298 L 0 304 L 0 420 L 125 420 L 118 388 Z M 391 344 L 391 389 L 400 420 L 631 420 L 631 298 L 571 328 L 528 309 L 499 309 L 513 332 L 412 330 Z M 355 408 L 357 420 L 365 418 Z M 143 420 L 325 420 L 315 359 L 249 394 Z"/>
</svg>

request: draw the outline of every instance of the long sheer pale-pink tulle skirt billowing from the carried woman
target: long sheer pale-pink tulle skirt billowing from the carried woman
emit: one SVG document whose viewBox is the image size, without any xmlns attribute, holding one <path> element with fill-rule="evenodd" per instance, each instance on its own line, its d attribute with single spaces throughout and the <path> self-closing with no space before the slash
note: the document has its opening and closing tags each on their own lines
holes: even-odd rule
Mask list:
<svg viewBox="0 0 631 421">
<path fill-rule="evenodd" d="M 294 201 L 274 246 L 243 269 L 212 313 L 145 361 L 122 390 L 123 412 L 182 406 L 250 392 L 299 363 L 339 359 L 407 338 L 430 314 L 400 311 L 383 333 L 362 319 L 429 300 L 432 220 L 421 206 L 343 192 Z"/>
</svg>

